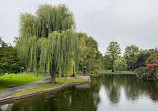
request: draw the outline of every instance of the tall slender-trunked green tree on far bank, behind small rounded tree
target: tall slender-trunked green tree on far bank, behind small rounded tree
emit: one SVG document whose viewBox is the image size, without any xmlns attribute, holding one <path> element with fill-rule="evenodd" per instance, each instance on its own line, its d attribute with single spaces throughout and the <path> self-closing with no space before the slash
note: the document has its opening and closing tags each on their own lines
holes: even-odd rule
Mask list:
<svg viewBox="0 0 158 111">
<path fill-rule="evenodd" d="M 110 56 L 111 64 L 112 64 L 112 72 L 114 72 L 114 61 L 120 56 L 121 54 L 121 49 L 120 45 L 118 42 L 112 41 L 110 42 L 109 46 L 107 47 L 107 55 Z"/>
</svg>

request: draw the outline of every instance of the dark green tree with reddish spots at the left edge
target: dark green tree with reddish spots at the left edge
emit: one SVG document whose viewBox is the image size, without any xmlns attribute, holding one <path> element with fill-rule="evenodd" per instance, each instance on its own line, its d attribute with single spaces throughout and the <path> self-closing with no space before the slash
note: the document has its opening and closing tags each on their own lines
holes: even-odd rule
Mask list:
<svg viewBox="0 0 158 111">
<path fill-rule="evenodd" d="M 0 75 L 19 73 L 24 70 L 24 63 L 18 57 L 17 50 L 0 39 Z"/>
</svg>

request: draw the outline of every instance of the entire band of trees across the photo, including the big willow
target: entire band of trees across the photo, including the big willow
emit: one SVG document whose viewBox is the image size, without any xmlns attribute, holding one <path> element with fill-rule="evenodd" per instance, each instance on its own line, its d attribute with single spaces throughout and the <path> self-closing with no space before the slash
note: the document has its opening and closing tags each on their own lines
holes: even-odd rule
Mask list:
<svg viewBox="0 0 158 111">
<path fill-rule="evenodd" d="M 98 43 L 86 33 L 75 31 L 73 13 L 65 5 L 41 5 L 35 14 L 20 16 L 16 46 L 8 46 L 0 39 L 1 73 L 26 71 L 49 73 L 52 83 L 56 76 L 98 73 L 101 70 L 133 71 L 157 58 L 153 49 L 142 50 L 127 46 L 121 55 L 120 44 L 109 43 L 103 56 Z M 11 66 L 12 65 L 12 66 Z"/>
</svg>

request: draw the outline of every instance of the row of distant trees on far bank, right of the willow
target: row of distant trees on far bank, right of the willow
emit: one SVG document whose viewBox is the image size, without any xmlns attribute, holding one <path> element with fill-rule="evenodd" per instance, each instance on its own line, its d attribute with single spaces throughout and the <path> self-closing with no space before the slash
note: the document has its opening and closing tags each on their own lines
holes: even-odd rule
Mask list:
<svg viewBox="0 0 158 111">
<path fill-rule="evenodd" d="M 120 44 L 112 41 L 107 47 L 102 63 L 106 70 L 112 70 L 112 72 L 134 71 L 136 68 L 146 66 L 148 61 L 151 62 L 155 54 L 154 49 L 142 50 L 136 45 L 130 45 L 126 46 L 124 54 L 121 56 Z"/>
</svg>

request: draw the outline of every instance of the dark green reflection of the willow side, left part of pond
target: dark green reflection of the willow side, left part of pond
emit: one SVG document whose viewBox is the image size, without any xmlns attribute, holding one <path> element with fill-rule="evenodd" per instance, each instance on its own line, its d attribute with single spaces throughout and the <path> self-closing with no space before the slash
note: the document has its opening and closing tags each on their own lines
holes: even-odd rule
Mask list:
<svg viewBox="0 0 158 111">
<path fill-rule="evenodd" d="M 18 102 L 13 111 L 96 111 L 99 98 L 99 82 L 97 78 L 91 84 L 92 88 L 67 88 L 54 95 L 40 96 L 27 102 Z"/>
</svg>

